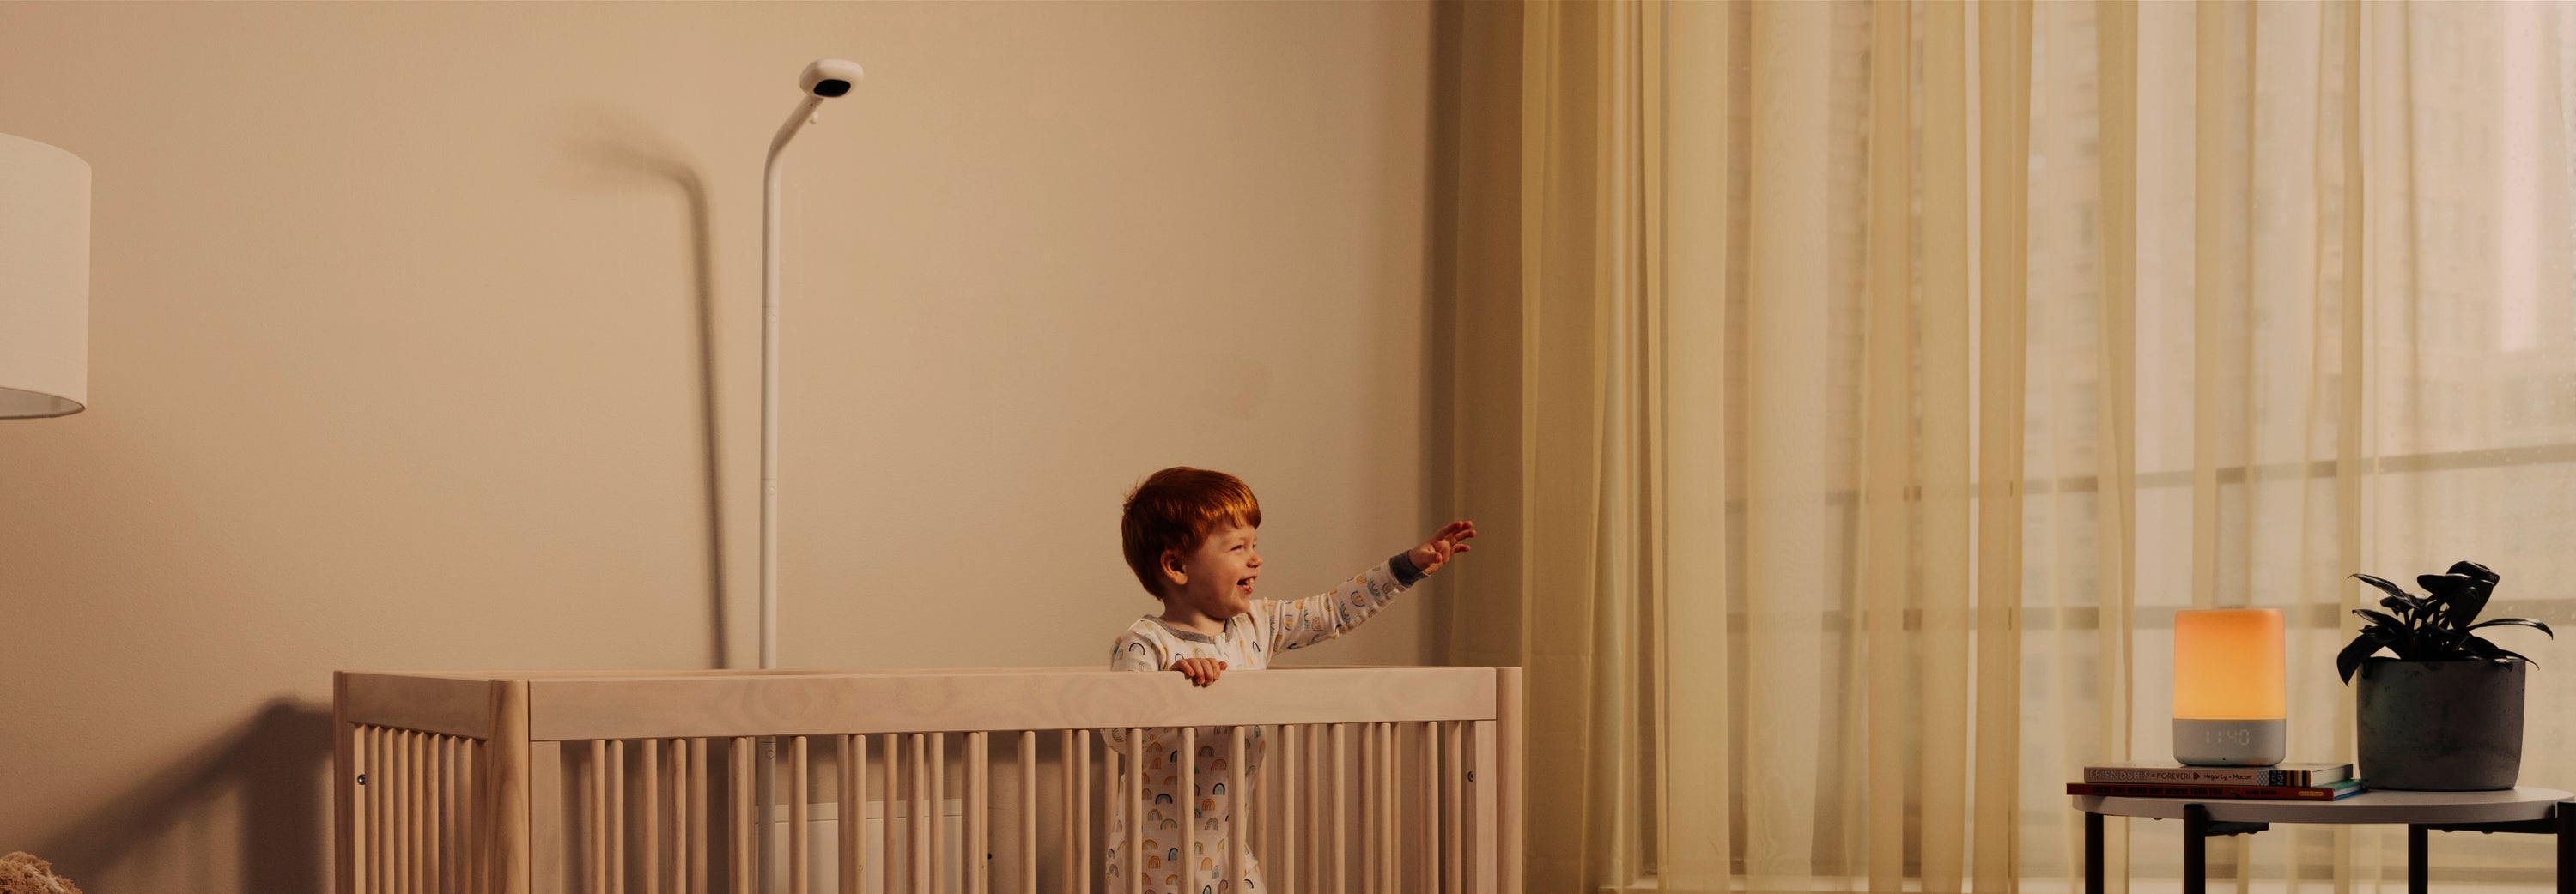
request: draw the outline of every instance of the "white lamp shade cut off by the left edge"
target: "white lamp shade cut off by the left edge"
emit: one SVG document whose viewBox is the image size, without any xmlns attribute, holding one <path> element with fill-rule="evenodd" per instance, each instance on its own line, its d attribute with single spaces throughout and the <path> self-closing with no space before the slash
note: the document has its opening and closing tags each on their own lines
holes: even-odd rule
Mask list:
<svg viewBox="0 0 2576 894">
<path fill-rule="evenodd" d="M 90 402 L 90 165 L 0 134 L 0 417 Z"/>
</svg>

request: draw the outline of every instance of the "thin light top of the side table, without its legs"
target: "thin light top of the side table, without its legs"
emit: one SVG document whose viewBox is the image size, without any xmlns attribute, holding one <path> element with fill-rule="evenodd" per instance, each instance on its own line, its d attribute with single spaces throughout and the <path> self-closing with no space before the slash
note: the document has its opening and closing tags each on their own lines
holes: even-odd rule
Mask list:
<svg viewBox="0 0 2576 894">
<path fill-rule="evenodd" d="M 2342 801 L 2257 801 L 2257 799 L 2112 799 L 2079 794 L 2076 809 L 2105 817 L 2182 819 L 2184 804 L 2202 804 L 2213 822 L 2522 822 L 2550 819 L 2558 801 L 2576 796 L 2558 788 L 2506 791 L 2362 791 Z"/>
</svg>

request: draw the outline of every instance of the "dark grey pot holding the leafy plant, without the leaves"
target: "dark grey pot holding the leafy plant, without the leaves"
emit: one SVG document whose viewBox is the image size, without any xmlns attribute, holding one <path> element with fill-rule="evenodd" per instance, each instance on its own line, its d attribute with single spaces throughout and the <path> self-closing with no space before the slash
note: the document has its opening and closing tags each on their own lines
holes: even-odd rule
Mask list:
<svg viewBox="0 0 2576 894">
<path fill-rule="evenodd" d="M 2354 675 L 2362 783 L 2403 791 L 2514 788 L 2524 662 L 2401 662 Z"/>
</svg>

